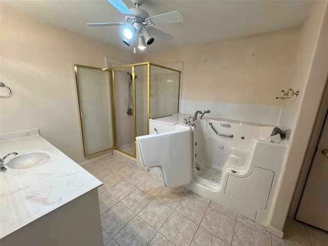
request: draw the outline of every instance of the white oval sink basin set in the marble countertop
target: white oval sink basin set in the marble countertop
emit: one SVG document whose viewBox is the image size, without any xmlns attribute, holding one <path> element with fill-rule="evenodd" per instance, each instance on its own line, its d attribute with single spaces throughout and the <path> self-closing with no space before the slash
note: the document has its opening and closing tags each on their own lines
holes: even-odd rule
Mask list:
<svg viewBox="0 0 328 246">
<path fill-rule="evenodd" d="M 49 151 L 33 151 L 22 153 L 14 156 L 7 163 L 7 167 L 11 169 L 27 169 L 34 168 L 51 159 L 52 153 Z"/>
</svg>

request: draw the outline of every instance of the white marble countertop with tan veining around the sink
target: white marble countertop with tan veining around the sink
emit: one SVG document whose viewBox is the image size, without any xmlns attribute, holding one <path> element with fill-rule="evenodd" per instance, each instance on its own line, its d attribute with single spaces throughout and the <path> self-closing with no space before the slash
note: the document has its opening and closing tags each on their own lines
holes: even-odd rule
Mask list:
<svg viewBox="0 0 328 246">
<path fill-rule="evenodd" d="M 17 138 L 18 137 L 18 138 Z M 38 130 L 1 134 L 0 156 L 44 150 L 50 159 L 28 169 L 0 172 L 0 238 L 102 185 L 76 162 L 38 135 Z M 19 155 L 17 155 L 19 156 Z"/>
</svg>

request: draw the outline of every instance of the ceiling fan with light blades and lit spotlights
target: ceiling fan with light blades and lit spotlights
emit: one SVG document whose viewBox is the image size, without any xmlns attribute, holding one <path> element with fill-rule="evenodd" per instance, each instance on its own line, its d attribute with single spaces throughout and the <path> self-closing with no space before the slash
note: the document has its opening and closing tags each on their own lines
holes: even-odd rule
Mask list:
<svg viewBox="0 0 328 246">
<path fill-rule="evenodd" d="M 128 14 L 125 19 L 126 23 L 88 23 L 89 27 L 100 27 L 100 26 L 125 26 L 123 42 L 127 46 L 131 46 L 134 38 L 138 39 L 138 48 L 145 49 L 146 45 L 151 45 L 154 42 L 152 35 L 159 37 L 165 41 L 170 41 L 173 36 L 162 32 L 153 25 L 159 24 L 170 24 L 183 22 L 183 15 L 179 11 L 172 11 L 164 14 L 150 16 L 145 10 L 139 8 L 144 3 L 144 0 L 131 0 L 135 5 L 135 8 L 129 9 L 122 0 L 107 0 L 111 3 L 118 11 L 124 14 Z M 130 16 L 129 16 L 130 15 Z M 135 48 L 134 48 L 135 52 Z"/>
</svg>

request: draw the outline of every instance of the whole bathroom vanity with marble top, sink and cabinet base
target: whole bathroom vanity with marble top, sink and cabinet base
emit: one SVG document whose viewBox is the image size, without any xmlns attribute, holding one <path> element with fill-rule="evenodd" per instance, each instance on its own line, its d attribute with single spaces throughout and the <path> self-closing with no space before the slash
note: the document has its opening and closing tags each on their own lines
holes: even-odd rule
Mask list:
<svg viewBox="0 0 328 246">
<path fill-rule="evenodd" d="M 0 244 L 103 245 L 101 181 L 39 135 L 0 135 Z"/>
</svg>

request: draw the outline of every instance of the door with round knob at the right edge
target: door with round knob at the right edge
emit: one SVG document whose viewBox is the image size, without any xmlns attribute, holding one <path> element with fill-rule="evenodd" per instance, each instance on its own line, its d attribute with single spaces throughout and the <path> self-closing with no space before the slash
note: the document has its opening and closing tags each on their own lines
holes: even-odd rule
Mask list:
<svg viewBox="0 0 328 246">
<path fill-rule="evenodd" d="M 328 117 L 306 180 L 296 219 L 328 231 Z"/>
</svg>

